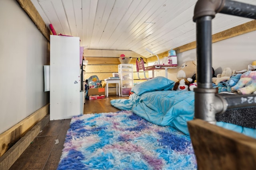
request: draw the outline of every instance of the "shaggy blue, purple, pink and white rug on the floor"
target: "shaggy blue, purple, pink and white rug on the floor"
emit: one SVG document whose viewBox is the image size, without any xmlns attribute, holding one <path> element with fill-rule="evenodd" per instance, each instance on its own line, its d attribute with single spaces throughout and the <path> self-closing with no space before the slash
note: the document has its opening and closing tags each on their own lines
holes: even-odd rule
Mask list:
<svg viewBox="0 0 256 170">
<path fill-rule="evenodd" d="M 188 135 L 131 111 L 72 117 L 58 170 L 196 170 Z"/>
</svg>

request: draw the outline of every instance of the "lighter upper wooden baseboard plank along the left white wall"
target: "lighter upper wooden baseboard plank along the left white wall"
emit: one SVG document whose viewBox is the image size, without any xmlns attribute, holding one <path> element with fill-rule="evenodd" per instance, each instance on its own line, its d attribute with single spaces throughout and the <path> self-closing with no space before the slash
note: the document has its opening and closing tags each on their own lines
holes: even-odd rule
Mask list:
<svg viewBox="0 0 256 170">
<path fill-rule="evenodd" d="M 50 104 L 41 107 L 0 135 L 0 156 L 2 156 L 14 143 L 26 134 L 45 115 L 49 114 Z"/>
</svg>

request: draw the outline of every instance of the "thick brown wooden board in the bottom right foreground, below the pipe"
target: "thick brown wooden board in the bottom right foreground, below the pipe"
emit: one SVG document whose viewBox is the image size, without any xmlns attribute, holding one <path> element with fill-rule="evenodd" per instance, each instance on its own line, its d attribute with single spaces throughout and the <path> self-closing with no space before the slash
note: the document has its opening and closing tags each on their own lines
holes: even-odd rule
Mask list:
<svg viewBox="0 0 256 170">
<path fill-rule="evenodd" d="M 195 119 L 188 129 L 199 170 L 252 170 L 256 139 Z"/>
</svg>

